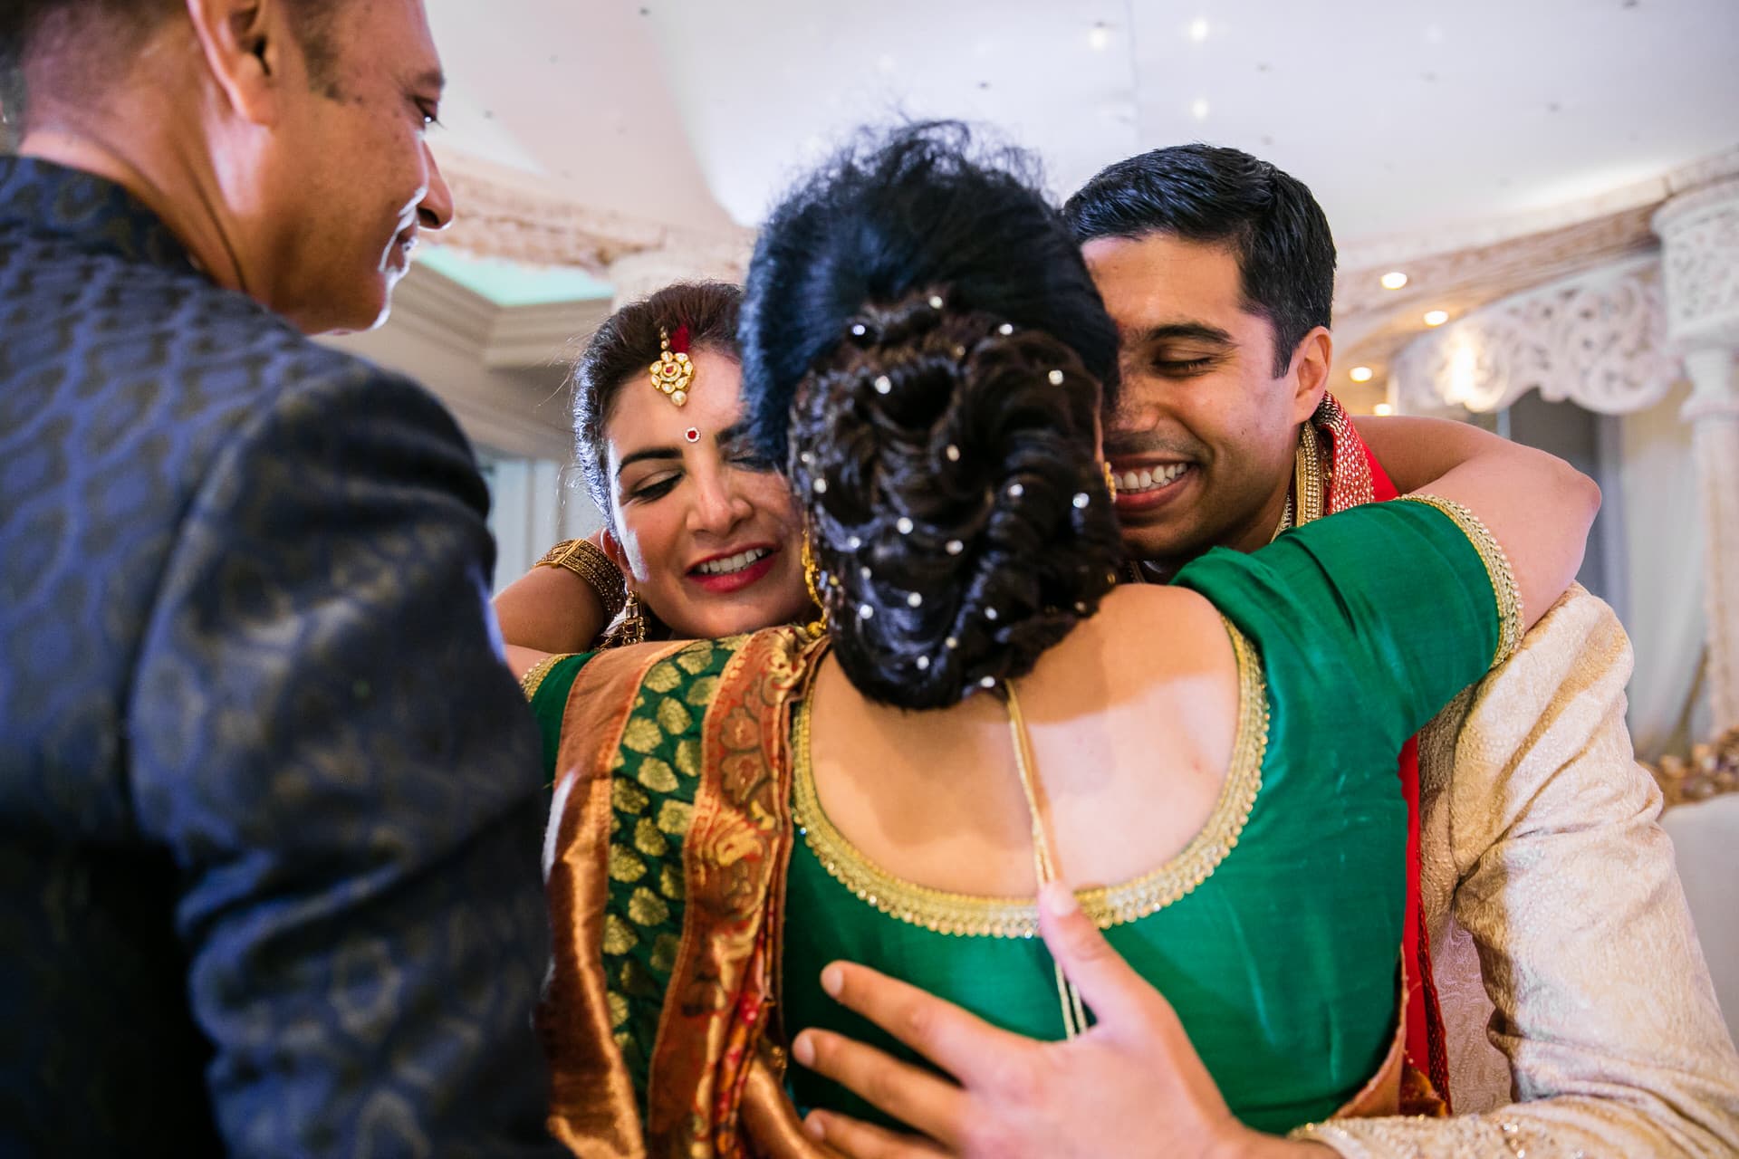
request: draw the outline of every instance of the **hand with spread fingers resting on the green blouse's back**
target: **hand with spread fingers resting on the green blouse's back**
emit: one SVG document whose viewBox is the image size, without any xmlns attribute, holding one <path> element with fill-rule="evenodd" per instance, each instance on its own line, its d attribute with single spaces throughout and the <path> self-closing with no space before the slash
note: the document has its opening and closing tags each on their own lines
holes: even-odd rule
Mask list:
<svg viewBox="0 0 1739 1159">
<path fill-rule="evenodd" d="M 805 1030 L 793 1046 L 802 1065 L 923 1135 L 899 1135 L 831 1112 L 810 1114 L 810 1133 L 854 1159 L 1334 1154 L 1240 1124 L 1170 1003 L 1116 956 L 1061 886 L 1047 886 L 1040 926 L 1097 1020 L 1068 1043 L 998 1030 L 864 966 L 828 966 L 823 985 L 835 999 L 956 1081 L 852 1039 Z"/>
</svg>

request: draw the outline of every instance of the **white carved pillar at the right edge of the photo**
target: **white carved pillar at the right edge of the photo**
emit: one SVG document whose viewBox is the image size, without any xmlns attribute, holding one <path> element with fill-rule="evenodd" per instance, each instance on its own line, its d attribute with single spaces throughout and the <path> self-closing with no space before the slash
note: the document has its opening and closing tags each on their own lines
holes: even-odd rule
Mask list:
<svg viewBox="0 0 1739 1159">
<path fill-rule="evenodd" d="M 1694 387 L 1683 415 L 1708 537 L 1708 685 L 1720 735 L 1739 728 L 1739 179 L 1675 196 L 1654 231 L 1668 339 Z"/>
</svg>

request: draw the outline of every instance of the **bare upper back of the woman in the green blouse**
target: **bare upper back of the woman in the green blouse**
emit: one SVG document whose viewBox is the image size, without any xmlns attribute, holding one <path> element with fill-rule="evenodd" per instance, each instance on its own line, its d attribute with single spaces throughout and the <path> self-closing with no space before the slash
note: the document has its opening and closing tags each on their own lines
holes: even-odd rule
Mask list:
<svg viewBox="0 0 1739 1159">
<path fill-rule="evenodd" d="M 1016 681 L 1040 810 L 1073 888 L 1139 878 L 1219 799 L 1238 721 L 1226 627 L 1202 596 L 1122 587 Z M 951 709 L 875 704 L 831 659 L 810 693 L 816 791 L 833 825 L 906 881 L 1033 897 L 1033 831 L 989 693 Z"/>
</svg>

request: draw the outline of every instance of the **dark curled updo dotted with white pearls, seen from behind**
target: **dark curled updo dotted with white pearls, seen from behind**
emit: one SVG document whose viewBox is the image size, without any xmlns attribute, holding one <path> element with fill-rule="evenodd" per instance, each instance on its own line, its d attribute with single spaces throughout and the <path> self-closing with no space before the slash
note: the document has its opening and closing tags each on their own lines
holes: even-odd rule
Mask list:
<svg viewBox="0 0 1739 1159">
<path fill-rule="evenodd" d="M 741 346 L 864 695 L 929 709 L 1023 676 L 1109 591 L 1116 330 L 1028 155 L 958 123 L 864 136 L 763 228 Z"/>
</svg>

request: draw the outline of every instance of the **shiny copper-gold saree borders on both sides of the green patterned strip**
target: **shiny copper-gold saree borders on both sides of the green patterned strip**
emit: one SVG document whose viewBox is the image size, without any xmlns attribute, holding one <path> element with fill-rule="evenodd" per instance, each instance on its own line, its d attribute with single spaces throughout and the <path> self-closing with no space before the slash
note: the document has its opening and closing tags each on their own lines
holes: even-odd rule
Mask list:
<svg viewBox="0 0 1739 1159">
<path fill-rule="evenodd" d="M 569 697 L 544 851 L 555 963 L 537 1025 L 551 1063 L 550 1129 L 588 1157 L 819 1156 L 784 1096 L 783 1051 L 767 1037 L 793 839 L 791 704 L 819 653 L 798 632 L 750 636 L 704 711 L 701 780 L 682 846 L 682 938 L 643 1109 L 610 1025 L 610 782 L 645 674 L 682 648 L 600 655 Z"/>
</svg>

